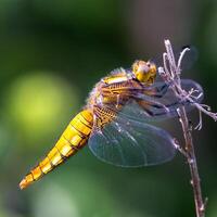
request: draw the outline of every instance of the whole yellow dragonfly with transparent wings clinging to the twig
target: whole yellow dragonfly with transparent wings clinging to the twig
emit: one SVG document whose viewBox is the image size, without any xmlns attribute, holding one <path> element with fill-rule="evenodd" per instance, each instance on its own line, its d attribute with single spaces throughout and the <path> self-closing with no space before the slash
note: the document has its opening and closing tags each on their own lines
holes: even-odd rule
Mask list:
<svg viewBox="0 0 217 217">
<path fill-rule="evenodd" d="M 177 117 L 177 108 L 193 108 L 177 99 L 170 85 L 157 78 L 157 64 L 136 61 L 131 68 L 117 68 L 102 78 L 90 92 L 86 105 L 69 122 L 62 136 L 36 167 L 23 178 L 25 189 L 40 179 L 86 144 L 103 162 L 122 167 L 142 167 L 170 161 L 176 152 L 173 136 L 154 122 Z M 181 80 L 187 91 L 201 92 L 190 79 Z"/>
</svg>

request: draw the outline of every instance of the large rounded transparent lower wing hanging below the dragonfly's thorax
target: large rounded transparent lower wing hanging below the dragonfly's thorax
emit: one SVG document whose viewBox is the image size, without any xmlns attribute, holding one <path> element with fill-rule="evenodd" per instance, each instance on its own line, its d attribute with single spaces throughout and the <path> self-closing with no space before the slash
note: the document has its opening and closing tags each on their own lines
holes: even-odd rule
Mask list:
<svg viewBox="0 0 217 217">
<path fill-rule="evenodd" d="M 98 158 L 123 167 L 162 164 L 176 153 L 167 131 L 120 116 L 102 129 L 93 128 L 88 144 Z"/>
</svg>

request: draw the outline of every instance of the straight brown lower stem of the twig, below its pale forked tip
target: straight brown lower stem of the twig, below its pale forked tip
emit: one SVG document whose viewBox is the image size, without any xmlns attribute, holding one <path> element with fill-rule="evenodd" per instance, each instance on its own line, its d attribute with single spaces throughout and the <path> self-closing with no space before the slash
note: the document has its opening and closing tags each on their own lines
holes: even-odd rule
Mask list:
<svg viewBox="0 0 217 217">
<path fill-rule="evenodd" d="M 191 184 L 193 188 L 194 203 L 196 209 L 196 217 L 205 216 L 205 205 L 202 197 L 201 181 L 199 176 L 199 169 L 196 164 L 196 157 L 194 153 L 193 140 L 191 135 L 191 126 L 189 125 L 189 119 L 187 117 L 187 112 L 184 106 L 181 106 L 178 111 L 180 116 L 180 123 L 183 130 L 184 141 L 186 141 L 186 153 L 191 171 Z"/>
</svg>

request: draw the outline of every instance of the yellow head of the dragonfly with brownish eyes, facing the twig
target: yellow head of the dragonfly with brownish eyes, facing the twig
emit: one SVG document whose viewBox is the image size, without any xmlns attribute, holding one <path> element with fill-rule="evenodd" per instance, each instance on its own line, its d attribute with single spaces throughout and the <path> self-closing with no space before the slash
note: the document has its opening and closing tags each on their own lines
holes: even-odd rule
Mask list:
<svg viewBox="0 0 217 217">
<path fill-rule="evenodd" d="M 151 62 L 136 61 L 132 64 L 132 73 L 140 82 L 152 85 L 156 77 L 156 65 Z"/>
</svg>

